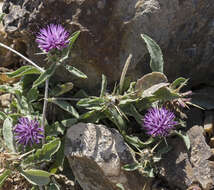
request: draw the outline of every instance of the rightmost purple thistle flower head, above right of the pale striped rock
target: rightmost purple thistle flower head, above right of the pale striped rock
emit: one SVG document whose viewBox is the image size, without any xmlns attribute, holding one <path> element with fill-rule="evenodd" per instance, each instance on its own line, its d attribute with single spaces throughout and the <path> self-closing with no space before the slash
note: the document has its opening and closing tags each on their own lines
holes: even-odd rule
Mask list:
<svg viewBox="0 0 214 190">
<path fill-rule="evenodd" d="M 167 136 L 170 130 L 178 124 L 174 119 L 174 113 L 166 108 L 151 108 L 144 116 L 144 128 L 147 134 L 154 137 Z"/>
</svg>

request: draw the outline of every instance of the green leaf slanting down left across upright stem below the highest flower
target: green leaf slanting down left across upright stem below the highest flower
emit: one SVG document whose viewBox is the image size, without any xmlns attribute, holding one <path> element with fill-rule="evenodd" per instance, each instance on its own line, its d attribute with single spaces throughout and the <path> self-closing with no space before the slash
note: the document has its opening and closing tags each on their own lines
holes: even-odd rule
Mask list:
<svg viewBox="0 0 214 190">
<path fill-rule="evenodd" d="M 52 64 L 44 73 L 42 73 L 39 78 L 33 83 L 33 87 L 35 88 L 37 86 L 39 86 L 40 84 L 42 84 L 43 82 L 45 82 L 48 78 L 50 78 L 55 70 L 56 70 L 56 64 Z"/>
</svg>

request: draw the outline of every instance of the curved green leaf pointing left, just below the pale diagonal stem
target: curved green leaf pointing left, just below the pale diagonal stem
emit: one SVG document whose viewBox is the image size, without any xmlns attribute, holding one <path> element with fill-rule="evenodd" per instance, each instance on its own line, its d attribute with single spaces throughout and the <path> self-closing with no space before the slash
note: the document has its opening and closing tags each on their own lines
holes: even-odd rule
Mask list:
<svg viewBox="0 0 214 190">
<path fill-rule="evenodd" d="M 16 71 L 8 72 L 6 74 L 10 78 L 15 78 L 15 77 L 21 77 L 21 76 L 30 75 L 30 74 L 41 74 L 41 71 L 39 71 L 36 67 L 26 65 L 26 66 L 20 67 Z"/>
</svg>

